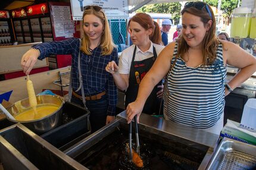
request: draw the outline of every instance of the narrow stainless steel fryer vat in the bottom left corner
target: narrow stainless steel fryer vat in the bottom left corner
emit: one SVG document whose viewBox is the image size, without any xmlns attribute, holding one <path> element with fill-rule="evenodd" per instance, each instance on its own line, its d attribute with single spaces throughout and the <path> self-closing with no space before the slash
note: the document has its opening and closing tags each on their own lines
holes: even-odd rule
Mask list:
<svg viewBox="0 0 256 170">
<path fill-rule="evenodd" d="M 87 169 L 23 124 L 0 131 L 0 159 L 8 169 Z"/>
</svg>

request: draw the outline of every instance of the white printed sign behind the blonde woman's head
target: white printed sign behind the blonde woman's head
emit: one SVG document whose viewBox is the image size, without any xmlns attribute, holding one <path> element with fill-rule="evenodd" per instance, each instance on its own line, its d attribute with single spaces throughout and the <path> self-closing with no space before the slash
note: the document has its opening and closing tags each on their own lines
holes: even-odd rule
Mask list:
<svg viewBox="0 0 256 170">
<path fill-rule="evenodd" d="M 70 0 L 73 20 L 82 20 L 83 7 L 97 5 L 101 7 L 108 19 L 127 19 L 128 0 Z"/>
</svg>

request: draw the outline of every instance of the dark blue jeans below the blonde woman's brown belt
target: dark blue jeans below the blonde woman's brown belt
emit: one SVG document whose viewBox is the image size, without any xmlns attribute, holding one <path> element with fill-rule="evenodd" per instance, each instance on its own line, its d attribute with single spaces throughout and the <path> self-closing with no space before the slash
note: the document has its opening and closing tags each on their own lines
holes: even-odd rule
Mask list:
<svg viewBox="0 0 256 170">
<path fill-rule="evenodd" d="M 72 95 L 71 102 L 84 107 L 83 101 L 76 96 Z M 108 110 L 107 95 L 103 95 L 98 100 L 86 100 L 86 107 L 90 111 L 90 127 L 93 133 L 106 125 Z"/>
</svg>

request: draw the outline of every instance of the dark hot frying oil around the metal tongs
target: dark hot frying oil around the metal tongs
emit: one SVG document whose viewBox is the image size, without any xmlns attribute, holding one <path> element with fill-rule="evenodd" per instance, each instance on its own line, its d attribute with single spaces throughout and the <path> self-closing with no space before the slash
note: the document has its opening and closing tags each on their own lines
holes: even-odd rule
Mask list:
<svg viewBox="0 0 256 170">
<path fill-rule="evenodd" d="M 115 131 L 104 140 L 94 144 L 87 149 L 76 159 L 82 165 L 89 169 L 198 169 L 199 163 L 196 156 L 191 156 L 192 160 L 179 156 L 179 152 L 171 147 L 163 146 L 155 139 L 147 137 L 139 137 L 141 144 L 141 159 L 143 160 L 143 167 L 137 167 L 130 161 L 127 152 L 126 143 L 128 133 L 124 131 Z M 135 136 L 133 137 L 134 140 Z M 133 141 L 133 149 L 136 150 L 136 141 Z M 191 150 L 189 148 L 185 150 Z M 198 152 L 198 150 L 193 150 Z M 186 152 L 186 151 L 185 151 Z M 188 155 L 188 153 L 185 153 Z M 201 153 L 199 153 L 199 157 Z M 203 158 L 204 156 L 202 156 Z M 199 159 L 202 159 L 199 158 Z M 196 160 L 193 160 L 196 159 Z"/>
</svg>

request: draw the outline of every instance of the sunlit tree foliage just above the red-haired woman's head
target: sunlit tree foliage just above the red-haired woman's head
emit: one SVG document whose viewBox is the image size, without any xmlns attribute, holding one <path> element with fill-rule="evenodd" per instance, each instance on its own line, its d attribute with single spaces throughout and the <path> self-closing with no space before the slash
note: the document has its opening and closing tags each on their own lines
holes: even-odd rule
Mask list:
<svg viewBox="0 0 256 170">
<path fill-rule="evenodd" d="M 161 4 L 149 4 L 136 10 L 136 12 L 151 12 L 151 13 L 163 13 L 171 14 L 173 24 L 179 23 L 180 11 L 182 5 L 179 2 L 161 3 Z"/>
</svg>

